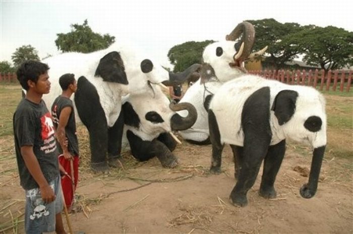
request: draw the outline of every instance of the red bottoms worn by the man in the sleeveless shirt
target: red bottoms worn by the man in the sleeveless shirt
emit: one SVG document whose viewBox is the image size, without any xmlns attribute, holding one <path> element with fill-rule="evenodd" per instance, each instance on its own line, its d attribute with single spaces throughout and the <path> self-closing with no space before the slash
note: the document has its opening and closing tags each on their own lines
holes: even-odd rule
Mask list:
<svg viewBox="0 0 353 234">
<path fill-rule="evenodd" d="M 74 201 L 74 196 L 75 196 L 75 191 L 76 191 L 76 186 L 77 186 L 77 181 L 79 177 L 79 157 L 75 156 L 73 160 L 73 166 L 74 166 L 74 190 L 73 191 L 73 186 L 72 186 L 72 178 L 71 178 L 71 166 L 70 166 L 70 160 L 66 160 L 64 155 L 61 154 L 58 158 L 59 163 L 63 166 L 65 171 L 68 173 L 69 176 L 64 175 L 62 177 L 62 189 L 64 193 L 64 198 L 65 198 L 65 204 L 66 207 L 69 209 Z"/>
</svg>

